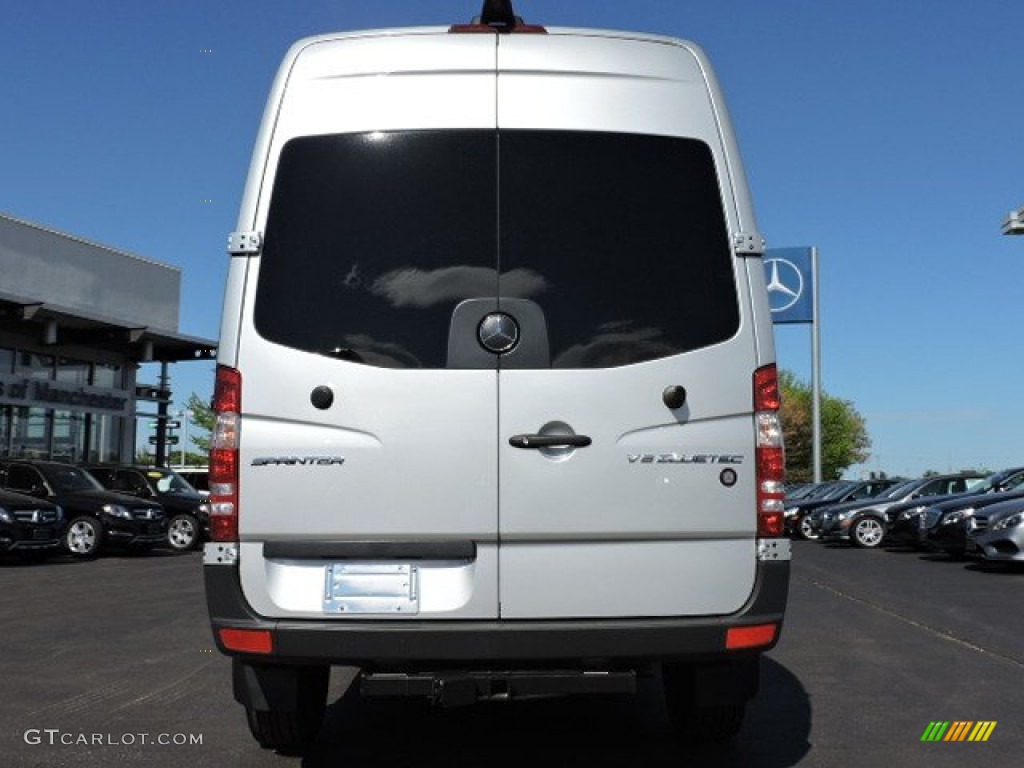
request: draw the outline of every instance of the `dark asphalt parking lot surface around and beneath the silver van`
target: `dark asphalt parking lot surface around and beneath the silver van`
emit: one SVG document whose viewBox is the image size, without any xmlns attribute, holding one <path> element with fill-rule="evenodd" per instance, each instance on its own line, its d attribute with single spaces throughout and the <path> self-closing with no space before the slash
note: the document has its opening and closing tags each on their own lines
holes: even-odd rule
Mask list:
<svg viewBox="0 0 1024 768">
<path fill-rule="evenodd" d="M 0 561 L 4 766 L 1017 766 L 1024 570 L 794 543 L 790 610 L 733 744 L 668 730 L 660 691 L 433 710 L 367 701 L 337 670 L 302 757 L 260 750 L 207 623 L 202 556 Z M 985 742 L 923 742 L 994 721 Z"/>
</svg>

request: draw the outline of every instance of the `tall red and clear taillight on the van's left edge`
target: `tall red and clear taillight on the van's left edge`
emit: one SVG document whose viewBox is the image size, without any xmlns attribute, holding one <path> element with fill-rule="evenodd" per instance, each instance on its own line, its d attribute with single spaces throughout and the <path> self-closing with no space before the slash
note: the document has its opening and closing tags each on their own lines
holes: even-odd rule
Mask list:
<svg viewBox="0 0 1024 768">
<path fill-rule="evenodd" d="M 237 542 L 242 374 L 233 368 L 217 367 L 213 410 L 217 421 L 210 437 L 210 538 Z"/>
</svg>

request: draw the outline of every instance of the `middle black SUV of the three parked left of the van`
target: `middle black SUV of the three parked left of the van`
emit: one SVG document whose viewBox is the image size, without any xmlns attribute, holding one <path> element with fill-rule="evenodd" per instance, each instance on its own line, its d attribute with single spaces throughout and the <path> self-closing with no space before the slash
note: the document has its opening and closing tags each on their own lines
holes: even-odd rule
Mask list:
<svg viewBox="0 0 1024 768">
<path fill-rule="evenodd" d="M 160 504 L 106 490 L 73 464 L 0 460 L 0 486 L 57 504 L 68 519 L 65 548 L 75 557 L 95 557 L 105 544 L 144 551 L 167 536 Z"/>
</svg>

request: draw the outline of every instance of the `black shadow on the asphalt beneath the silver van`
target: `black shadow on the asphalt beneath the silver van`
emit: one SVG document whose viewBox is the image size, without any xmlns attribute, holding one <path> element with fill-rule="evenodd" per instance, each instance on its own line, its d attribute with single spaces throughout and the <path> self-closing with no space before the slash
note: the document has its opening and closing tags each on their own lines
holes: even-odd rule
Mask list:
<svg viewBox="0 0 1024 768">
<path fill-rule="evenodd" d="M 319 737 L 301 764 L 782 768 L 806 757 L 810 728 L 810 700 L 800 680 L 765 658 L 761 693 L 748 708 L 738 737 L 725 746 L 676 741 L 653 679 L 641 680 L 636 696 L 492 701 L 453 709 L 361 699 L 348 690 L 328 708 Z"/>
</svg>

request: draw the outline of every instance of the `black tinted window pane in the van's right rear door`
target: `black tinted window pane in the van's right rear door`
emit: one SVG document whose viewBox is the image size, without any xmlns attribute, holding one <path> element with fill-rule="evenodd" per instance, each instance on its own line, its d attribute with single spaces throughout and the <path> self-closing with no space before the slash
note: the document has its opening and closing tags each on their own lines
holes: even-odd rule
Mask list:
<svg viewBox="0 0 1024 768">
<path fill-rule="evenodd" d="M 543 275 L 536 300 L 553 368 L 665 357 L 738 329 L 732 255 L 707 144 L 506 131 L 501 173 L 501 271 Z"/>
</svg>

